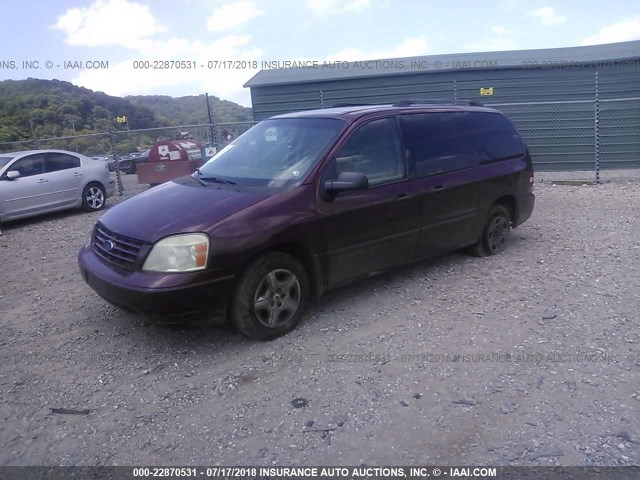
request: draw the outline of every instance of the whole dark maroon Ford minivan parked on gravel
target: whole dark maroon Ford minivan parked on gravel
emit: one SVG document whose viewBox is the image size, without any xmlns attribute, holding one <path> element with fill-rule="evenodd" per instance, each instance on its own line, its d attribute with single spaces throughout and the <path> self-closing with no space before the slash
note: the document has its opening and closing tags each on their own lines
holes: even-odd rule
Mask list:
<svg viewBox="0 0 640 480">
<path fill-rule="evenodd" d="M 229 318 L 271 339 L 334 287 L 462 247 L 501 252 L 532 191 L 518 132 L 471 102 L 279 115 L 107 211 L 80 271 L 158 321 Z"/>
</svg>

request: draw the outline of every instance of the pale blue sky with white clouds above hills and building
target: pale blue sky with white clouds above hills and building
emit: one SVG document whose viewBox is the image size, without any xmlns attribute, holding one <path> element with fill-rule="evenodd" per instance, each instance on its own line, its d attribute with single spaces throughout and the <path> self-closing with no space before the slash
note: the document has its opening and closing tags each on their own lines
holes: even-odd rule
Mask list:
<svg viewBox="0 0 640 480">
<path fill-rule="evenodd" d="M 274 62 L 640 39 L 638 0 L 3 0 L 1 11 L 0 80 L 244 106 L 243 84 Z"/>
</svg>

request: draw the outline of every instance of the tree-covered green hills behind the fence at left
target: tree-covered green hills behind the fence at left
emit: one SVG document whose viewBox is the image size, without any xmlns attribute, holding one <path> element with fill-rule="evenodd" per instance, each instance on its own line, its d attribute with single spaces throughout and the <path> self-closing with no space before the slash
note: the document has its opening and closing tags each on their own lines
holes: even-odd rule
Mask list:
<svg viewBox="0 0 640 480">
<path fill-rule="evenodd" d="M 210 96 L 214 121 L 242 122 L 252 120 L 251 109 Z M 204 95 L 172 98 L 167 96 L 114 97 L 102 92 L 78 87 L 60 80 L 0 81 L 0 151 L 32 148 L 32 138 L 74 136 L 103 133 L 109 129 L 111 112 L 114 129 L 124 125 L 115 123 L 115 116 L 126 115 L 128 129 L 173 127 L 208 123 Z M 120 154 L 148 148 L 159 136 L 175 132 L 149 132 L 118 135 Z M 4 142 L 26 141 L 19 144 Z M 4 143 L 4 144 L 3 144 Z M 66 141 L 39 142 L 40 148 L 73 149 L 87 155 L 111 151 L 108 136 L 75 138 Z"/>
</svg>

